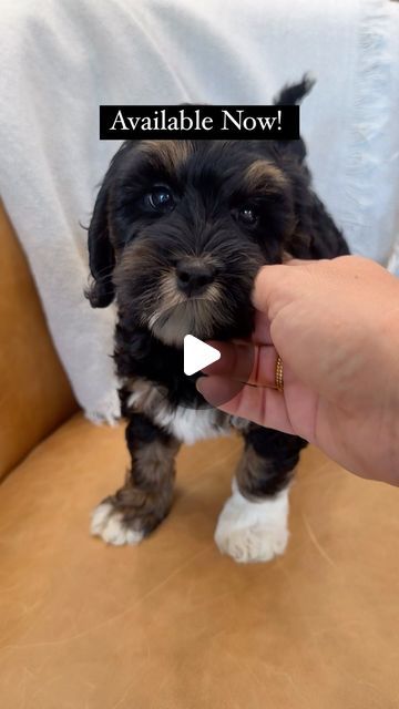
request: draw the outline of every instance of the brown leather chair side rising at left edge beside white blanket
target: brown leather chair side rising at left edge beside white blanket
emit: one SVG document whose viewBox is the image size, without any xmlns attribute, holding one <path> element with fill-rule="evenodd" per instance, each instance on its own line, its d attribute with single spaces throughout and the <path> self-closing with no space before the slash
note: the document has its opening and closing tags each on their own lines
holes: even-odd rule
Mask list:
<svg viewBox="0 0 399 709">
<path fill-rule="evenodd" d="M 0 477 L 76 409 L 27 258 L 0 202 Z"/>
</svg>

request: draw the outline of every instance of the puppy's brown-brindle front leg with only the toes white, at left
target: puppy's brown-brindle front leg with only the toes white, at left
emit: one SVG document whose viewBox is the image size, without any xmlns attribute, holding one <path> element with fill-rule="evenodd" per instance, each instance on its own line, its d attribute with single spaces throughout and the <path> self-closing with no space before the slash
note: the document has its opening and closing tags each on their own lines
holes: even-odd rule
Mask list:
<svg viewBox="0 0 399 709">
<path fill-rule="evenodd" d="M 167 515 L 180 443 L 141 413 L 126 428 L 132 467 L 114 495 L 93 511 L 91 533 L 109 544 L 137 544 Z"/>
</svg>

